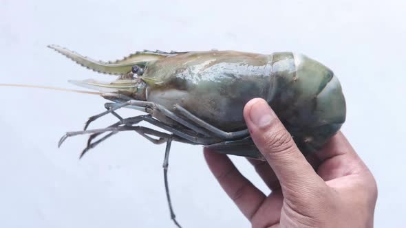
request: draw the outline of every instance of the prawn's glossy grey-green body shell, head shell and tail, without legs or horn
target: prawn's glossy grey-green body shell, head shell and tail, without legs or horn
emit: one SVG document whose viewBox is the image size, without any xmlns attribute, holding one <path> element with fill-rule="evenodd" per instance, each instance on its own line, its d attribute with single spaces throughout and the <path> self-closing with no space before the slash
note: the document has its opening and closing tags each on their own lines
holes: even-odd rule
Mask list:
<svg viewBox="0 0 406 228">
<path fill-rule="evenodd" d="M 180 104 L 225 131 L 246 128 L 244 105 L 264 98 L 303 152 L 319 150 L 345 122 L 339 80 L 301 54 L 188 52 L 149 63 L 142 77 L 147 100 Z"/>
</svg>

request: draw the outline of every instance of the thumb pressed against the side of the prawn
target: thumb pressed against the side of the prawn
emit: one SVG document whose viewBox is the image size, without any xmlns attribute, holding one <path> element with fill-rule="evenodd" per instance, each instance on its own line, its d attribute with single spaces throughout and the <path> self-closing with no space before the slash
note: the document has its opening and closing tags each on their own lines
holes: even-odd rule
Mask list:
<svg viewBox="0 0 406 228">
<path fill-rule="evenodd" d="M 275 171 L 282 190 L 284 187 L 291 191 L 307 190 L 323 183 L 265 100 L 250 100 L 244 107 L 244 118 L 255 145 Z"/>
</svg>

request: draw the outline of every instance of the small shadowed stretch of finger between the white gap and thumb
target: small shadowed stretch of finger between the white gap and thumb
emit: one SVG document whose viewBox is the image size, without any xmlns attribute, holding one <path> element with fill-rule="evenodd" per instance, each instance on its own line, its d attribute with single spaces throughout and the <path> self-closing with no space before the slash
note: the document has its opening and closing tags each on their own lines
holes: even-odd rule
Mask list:
<svg viewBox="0 0 406 228">
<path fill-rule="evenodd" d="M 270 188 L 270 190 L 275 191 L 281 187 L 279 184 L 279 180 L 277 179 L 277 175 L 273 172 L 272 168 L 270 168 L 269 163 L 267 161 L 260 161 L 257 159 L 247 159 L 255 168 L 255 171 L 264 183 Z"/>
</svg>

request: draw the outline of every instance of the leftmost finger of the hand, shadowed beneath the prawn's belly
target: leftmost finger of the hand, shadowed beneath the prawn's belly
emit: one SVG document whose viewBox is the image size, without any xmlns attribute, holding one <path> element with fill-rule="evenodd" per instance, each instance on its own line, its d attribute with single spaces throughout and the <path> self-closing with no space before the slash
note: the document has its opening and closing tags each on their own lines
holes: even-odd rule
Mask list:
<svg viewBox="0 0 406 228">
<path fill-rule="evenodd" d="M 242 214 L 249 220 L 253 218 L 266 198 L 264 193 L 242 176 L 226 155 L 204 149 L 204 158 L 217 181 Z"/>
</svg>

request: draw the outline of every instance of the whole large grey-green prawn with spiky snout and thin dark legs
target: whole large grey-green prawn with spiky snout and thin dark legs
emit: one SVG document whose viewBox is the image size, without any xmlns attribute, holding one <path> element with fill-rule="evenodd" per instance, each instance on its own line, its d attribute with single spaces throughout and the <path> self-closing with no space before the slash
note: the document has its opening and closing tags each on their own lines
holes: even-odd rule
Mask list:
<svg viewBox="0 0 406 228">
<path fill-rule="evenodd" d="M 215 152 L 264 159 L 244 122 L 244 105 L 263 98 L 275 111 L 295 143 L 308 154 L 320 150 L 345 121 L 345 99 L 339 80 L 321 63 L 302 54 L 270 55 L 234 51 L 136 52 L 122 60 L 100 62 L 50 45 L 67 58 L 99 73 L 118 76 L 112 82 L 70 81 L 96 89 L 109 100 L 103 113 L 89 118 L 85 129 L 68 132 L 59 146 L 74 135 L 90 134 L 81 156 L 121 131 L 135 131 L 154 144 L 166 143 L 164 180 L 171 218 L 167 167 L 172 141 L 200 144 Z M 136 109 L 145 115 L 123 118 L 116 111 Z M 118 122 L 88 130 L 103 115 Z M 161 130 L 140 126 L 148 122 Z"/>
</svg>

